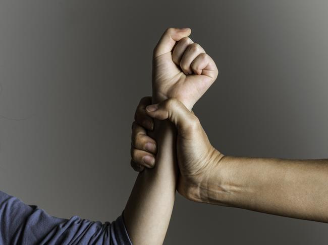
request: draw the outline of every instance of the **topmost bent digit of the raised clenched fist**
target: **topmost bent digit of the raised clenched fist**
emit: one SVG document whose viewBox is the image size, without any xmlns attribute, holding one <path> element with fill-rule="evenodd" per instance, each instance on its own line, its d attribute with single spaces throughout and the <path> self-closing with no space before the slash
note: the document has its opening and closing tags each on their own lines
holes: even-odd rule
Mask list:
<svg viewBox="0 0 328 245">
<path fill-rule="evenodd" d="M 157 57 L 159 55 L 171 52 L 176 42 L 181 38 L 188 37 L 190 33 L 190 28 L 168 28 L 158 41 L 154 49 L 153 56 Z"/>
</svg>

